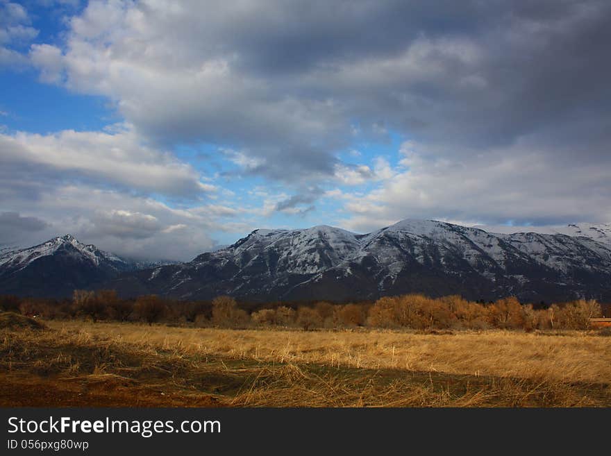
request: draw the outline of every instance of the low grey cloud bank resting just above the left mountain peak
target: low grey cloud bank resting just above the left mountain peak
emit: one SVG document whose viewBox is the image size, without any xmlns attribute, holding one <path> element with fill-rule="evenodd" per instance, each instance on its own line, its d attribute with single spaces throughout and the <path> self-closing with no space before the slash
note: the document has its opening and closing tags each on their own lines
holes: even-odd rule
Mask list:
<svg viewBox="0 0 611 456">
<path fill-rule="evenodd" d="M 142 259 L 191 260 L 215 246 L 210 233 L 218 231 L 223 221 L 206 210 L 171 208 L 149 197 L 83 184 L 45 187 L 37 199 L 20 192 L 2 201 L 4 207 L 27 205 L 44 228 L 29 232 L 15 228 L 22 234 L 19 239 L 6 237 L 0 242 L 30 246 L 71 233 L 106 251 Z"/>
</svg>

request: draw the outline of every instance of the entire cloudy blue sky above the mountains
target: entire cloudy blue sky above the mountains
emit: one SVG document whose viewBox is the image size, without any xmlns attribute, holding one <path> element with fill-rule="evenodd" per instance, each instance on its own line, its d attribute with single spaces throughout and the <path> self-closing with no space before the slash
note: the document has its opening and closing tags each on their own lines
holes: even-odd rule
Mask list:
<svg viewBox="0 0 611 456">
<path fill-rule="evenodd" d="M 611 221 L 611 2 L 0 0 L 0 246 Z"/>
</svg>

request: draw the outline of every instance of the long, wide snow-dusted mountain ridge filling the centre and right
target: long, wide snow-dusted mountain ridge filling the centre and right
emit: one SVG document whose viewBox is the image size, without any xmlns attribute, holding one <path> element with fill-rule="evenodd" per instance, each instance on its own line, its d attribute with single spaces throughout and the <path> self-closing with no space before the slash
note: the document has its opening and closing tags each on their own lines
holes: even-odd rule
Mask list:
<svg viewBox="0 0 611 456">
<path fill-rule="evenodd" d="M 252 301 L 343 301 L 407 292 L 609 300 L 611 245 L 578 231 L 493 234 L 430 220 L 404 220 L 367 235 L 330 226 L 255 230 L 192 262 L 124 274 L 112 287 L 124 295 L 231 294 Z"/>
</svg>

